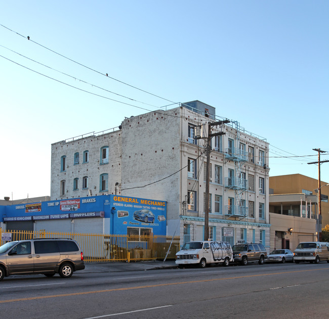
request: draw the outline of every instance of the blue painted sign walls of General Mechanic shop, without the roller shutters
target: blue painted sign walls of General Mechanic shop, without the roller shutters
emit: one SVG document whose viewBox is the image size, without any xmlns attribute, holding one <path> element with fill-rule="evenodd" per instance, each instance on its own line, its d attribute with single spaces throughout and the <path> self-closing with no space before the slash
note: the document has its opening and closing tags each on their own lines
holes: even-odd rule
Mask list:
<svg viewBox="0 0 329 319">
<path fill-rule="evenodd" d="M 127 235 L 134 229 L 152 229 L 151 233 L 154 235 L 166 235 L 167 202 L 128 196 L 102 195 L 0 206 L 0 220 L 3 222 L 37 222 L 97 217 L 104 218 L 106 234 Z"/>
</svg>

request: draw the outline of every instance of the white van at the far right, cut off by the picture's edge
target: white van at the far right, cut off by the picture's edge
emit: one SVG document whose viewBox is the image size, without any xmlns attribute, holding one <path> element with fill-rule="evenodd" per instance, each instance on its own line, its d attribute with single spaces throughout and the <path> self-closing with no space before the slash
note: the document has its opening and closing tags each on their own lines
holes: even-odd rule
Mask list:
<svg viewBox="0 0 329 319">
<path fill-rule="evenodd" d="M 294 251 L 295 263 L 309 261 L 319 263 L 321 260 L 329 262 L 329 243 L 305 242 L 299 243 Z"/>
</svg>

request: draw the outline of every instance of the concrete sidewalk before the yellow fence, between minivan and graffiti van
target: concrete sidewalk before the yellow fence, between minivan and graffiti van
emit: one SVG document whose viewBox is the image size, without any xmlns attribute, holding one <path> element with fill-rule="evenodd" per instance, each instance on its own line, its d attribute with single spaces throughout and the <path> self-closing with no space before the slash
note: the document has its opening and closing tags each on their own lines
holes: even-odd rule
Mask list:
<svg viewBox="0 0 329 319">
<path fill-rule="evenodd" d="M 79 272 L 112 272 L 177 268 L 175 260 L 152 260 L 138 262 L 85 262 L 85 266 L 86 268 L 84 270 L 79 270 Z"/>
</svg>

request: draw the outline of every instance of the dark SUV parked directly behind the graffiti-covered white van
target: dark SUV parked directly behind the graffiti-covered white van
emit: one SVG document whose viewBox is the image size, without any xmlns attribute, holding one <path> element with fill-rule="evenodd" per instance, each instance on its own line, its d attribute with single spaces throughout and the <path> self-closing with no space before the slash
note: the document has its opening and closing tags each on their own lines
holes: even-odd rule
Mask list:
<svg viewBox="0 0 329 319">
<path fill-rule="evenodd" d="M 237 242 L 232 247 L 234 262 L 239 262 L 245 266 L 248 262 L 258 261 L 260 265 L 267 258 L 267 252 L 262 244 L 248 244 L 246 242 Z"/>
</svg>

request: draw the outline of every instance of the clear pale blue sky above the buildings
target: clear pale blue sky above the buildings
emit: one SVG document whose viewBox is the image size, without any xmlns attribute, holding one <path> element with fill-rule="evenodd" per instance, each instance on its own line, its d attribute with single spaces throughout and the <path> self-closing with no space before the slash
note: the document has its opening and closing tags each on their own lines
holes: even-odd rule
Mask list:
<svg viewBox="0 0 329 319">
<path fill-rule="evenodd" d="M 50 195 L 52 143 L 167 100 L 202 101 L 263 136 L 271 176 L 317 179 L 307 162 L 329 152 L 328 16 L 321 0 L 2 2 L 0 198 Z"/>
</svg>

